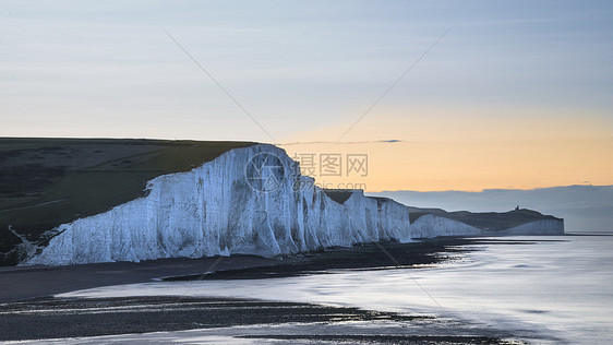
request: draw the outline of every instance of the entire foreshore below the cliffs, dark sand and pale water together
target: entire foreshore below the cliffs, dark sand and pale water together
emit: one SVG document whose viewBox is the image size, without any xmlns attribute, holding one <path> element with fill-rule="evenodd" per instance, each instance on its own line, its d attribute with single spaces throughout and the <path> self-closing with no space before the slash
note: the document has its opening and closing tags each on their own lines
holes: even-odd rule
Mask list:
<svg viewBox="0 0 613 345">
<path fill-rule="evenodd" d="M 0 341 L 608 344 L 612 240 L 449 237 L 276 259 L 4 267 Z"/>
</svg>

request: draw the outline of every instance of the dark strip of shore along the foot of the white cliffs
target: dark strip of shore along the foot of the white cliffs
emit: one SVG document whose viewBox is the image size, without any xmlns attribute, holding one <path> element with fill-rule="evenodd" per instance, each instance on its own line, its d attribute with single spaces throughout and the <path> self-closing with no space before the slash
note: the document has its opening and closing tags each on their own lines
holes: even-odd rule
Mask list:
<svg viewBox="0 0 613 345">
<path fill-rule="evenodd" d="M 0 266 L 0 304 L 80 289 L 153 281 L 237 279 L 292 276 L 330 269 L 436 264 L 449 247 L 479 242 L 474 237 L 438 237 L 408 243 L 360 243 L 268 259 L 256 255 L 170 258 L 142 262 L 79 265 Z M 501 241 L 503 241 L 501 239 Z M 381 247 L 394 257 L 389 259 Z M 461 252 L 460 249 L 454 249 Z M 435 257 L 438 254 L 440 257 Z M 204 275 L 205 273 L 209 273 Z M 44 284 L 41 284 L 44 283 Z"/>
</svg>

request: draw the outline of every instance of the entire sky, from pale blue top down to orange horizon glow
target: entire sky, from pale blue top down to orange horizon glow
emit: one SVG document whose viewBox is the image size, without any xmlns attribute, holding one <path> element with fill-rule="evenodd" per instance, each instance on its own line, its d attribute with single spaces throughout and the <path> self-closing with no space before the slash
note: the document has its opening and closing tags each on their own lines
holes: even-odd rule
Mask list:
<svg viewBox="0 0 613 345">
<path fill-rule="evenodd" d="M 0 136 L 268 142 L 368 191 L 613 183 L 610 1 L 0 3 Z"/>
</svg>

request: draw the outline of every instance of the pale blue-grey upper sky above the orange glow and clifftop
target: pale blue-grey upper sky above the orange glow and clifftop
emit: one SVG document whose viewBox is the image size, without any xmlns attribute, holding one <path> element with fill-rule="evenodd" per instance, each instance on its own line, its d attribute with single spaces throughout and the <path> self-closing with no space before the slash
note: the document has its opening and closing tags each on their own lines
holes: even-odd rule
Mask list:
<svg viewBox="0 0 613 345">
<path fill-rule="evenodd" d="M 610 124 L 611 19 L 610 1 L 2 1 L 0 135 L 269 142 L 161 27 L 279 141 L 348 128 L 449 27 L 370 118 Z"/>
</svg>

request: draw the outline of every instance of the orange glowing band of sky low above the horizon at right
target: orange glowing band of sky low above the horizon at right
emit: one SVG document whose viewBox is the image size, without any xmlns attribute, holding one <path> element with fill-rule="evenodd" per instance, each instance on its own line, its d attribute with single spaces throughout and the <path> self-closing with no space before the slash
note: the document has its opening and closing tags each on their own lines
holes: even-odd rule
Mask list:
<svg viewBox="0 0 613 345">
<path fill-rule="evenodd" d="M 376 116 L 364 119 L 342 140 L 351 144 L 312 143 L 334 142 L 344 130 L 338 126 L 287 141 L 302 144 L 280 146 L 290 156 L 368 154 L 366 177 L 314 177 L 326 187 L 350 183 L 370 192 L 613 185 L 613 131 L 605 117 L 512 112 L 498 111 L 495 118 L 486 111 Z M 380 140 L 399 142 L 376 142 Z"/>
</svg>

